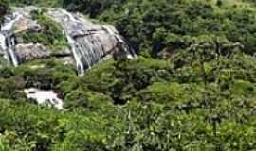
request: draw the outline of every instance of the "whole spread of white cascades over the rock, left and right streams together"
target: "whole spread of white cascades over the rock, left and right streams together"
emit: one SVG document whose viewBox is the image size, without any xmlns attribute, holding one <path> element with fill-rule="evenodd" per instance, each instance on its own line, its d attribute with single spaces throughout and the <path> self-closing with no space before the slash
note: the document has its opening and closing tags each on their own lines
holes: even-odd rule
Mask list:
<svg viewBox="0 0 256 151">
<path fill-rule="evenodd" d="M 54 22 L 59 23 L 64 30 L 70 47 L 67 52 L 72 54 L 71 57 L 76 62 L 79 75 L 82 76 L 85 70 L 90 69 L 102 60 L 110 59 L 116 52 L 122 52 L 119 54 L 127 58 L 136 57 L 133 49 L 129 47 L 115 27 L 111 25 L 94 24 L 79 13 L 70 13 L 61 8 L 12 8 L 13 13 L 5 17 L 5 22 L 0 30 L 0 55 L 9 59 L 9 62 L 14 66 L 19 64 L 17 57 L 21 61 L 22 57 L 26 55 L 28 56 L 27 58 L 30 57 L 33 59 L 33 56 L 30 55 L 33 53 L 33 50 L 22 45 L 22 39 L 19 37 L 17 43 L 15 43 L 14 33 L 12 31 L 13 25 L 17 23 L 18 28 L 15 29 L 15 33 L 22 31 L 37 32 L 33 28 L 33 22 L 36 21 L 32 20 L 30 12 L 32 10 L 40 11 L 41 9 L 44 9 L 45 15 L 50 17 Z M 19 22 L 16 22 L 18 20 Z M 23 47 L 17 47 L 15 44 L 22 45 Z M 35 45 L 38 43 L 29 44 Z M 15 47 L 16 50 L 14 50 Z M 43 54 L 42 56 L 44 56 L 45 50 L 40 51 L 41 49 L 36 51 L 38 53 L 37 55 L 41 56 Z M 51 50 L 47 51 L 50 52 Z M 72 62 L 72 59 L 70 60 Z"/>
</svg>

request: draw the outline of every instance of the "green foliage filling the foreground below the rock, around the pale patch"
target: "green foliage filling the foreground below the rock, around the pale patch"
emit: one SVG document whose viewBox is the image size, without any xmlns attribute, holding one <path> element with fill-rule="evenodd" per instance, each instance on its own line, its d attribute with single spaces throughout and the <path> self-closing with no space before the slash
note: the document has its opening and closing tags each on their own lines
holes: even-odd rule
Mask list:
<svg viewBox="0 0 256 151">
<path fill-rule="evenodd" d="M 10 70 L 10 76 L 0 78 L 0 92 L 15 101 L 0 101 L 0 147 L 18 151 L 254 149 L 255 59 L 238 51 L 215 54 L 203 59 L 204 78 L 200 59 L 209 54 L 200 53 L 205 49 L 201 46 L 196 46 L 197 55 L 192 56 L 192 50 L 180 52 L 171 61 L 110 60 L 82 77 L 55 59 Z M 177 61 L 184 58 L 183 63 Z M 184 80 L 191 75 L 193 80 Z M 51 89 L 44 86 L 47 82 L 61 93 L 65 110 L 9 97 L 35 83 Z"/>
</svg>

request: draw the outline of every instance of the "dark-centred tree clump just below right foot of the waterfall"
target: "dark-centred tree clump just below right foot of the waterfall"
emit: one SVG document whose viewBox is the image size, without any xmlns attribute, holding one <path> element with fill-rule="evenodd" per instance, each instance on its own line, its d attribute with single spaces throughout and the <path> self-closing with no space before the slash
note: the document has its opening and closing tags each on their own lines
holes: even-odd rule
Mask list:
<svg viewBox="0 0 256 151">
<path fill-rule="evenodd" d="M 82 77 L 82 83 L 95 91 L 110 95 L 115 103 L 123 104 L 139 90 L 156 80 L 169 78 L 168 61 L 132 59 L 95 67 Z"/>
</svg>

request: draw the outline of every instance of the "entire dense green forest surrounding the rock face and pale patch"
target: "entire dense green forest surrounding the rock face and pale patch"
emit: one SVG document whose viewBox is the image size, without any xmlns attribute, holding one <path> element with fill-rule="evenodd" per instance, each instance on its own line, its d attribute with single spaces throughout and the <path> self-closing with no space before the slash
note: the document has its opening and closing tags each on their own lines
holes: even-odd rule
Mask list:
<svg viewBox="0 0 256 151">
<path fill-rule="evenodd" d="M 138 58 L 101 62 L 84 76 L 57 59 L 16 68 L 0 59 L 0 151 L 256 149 L 253 0 L 0 0 L 1 18 L 28 5 L 115 25 Z M 65 109 L 19 92 L 35 84 L 58 92 Z"/>
</svg>

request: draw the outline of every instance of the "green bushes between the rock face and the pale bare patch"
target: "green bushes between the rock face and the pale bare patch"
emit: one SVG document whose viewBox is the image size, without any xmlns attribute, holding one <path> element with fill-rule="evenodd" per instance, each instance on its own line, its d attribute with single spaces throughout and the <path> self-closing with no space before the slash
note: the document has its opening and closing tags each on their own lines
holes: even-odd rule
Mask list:
<svg viewBox="0 0 256 151">
<path fill-rule="evenodd" d="M 59 88 L 63 82 L 71 79 L 75 83 L 77 78 L 74 67 L 64 65 L 56 59 L 32 61 L 19 66 L 14 72 L 27 81 L 26 87 L 42 89 Z"/>
</svg>

